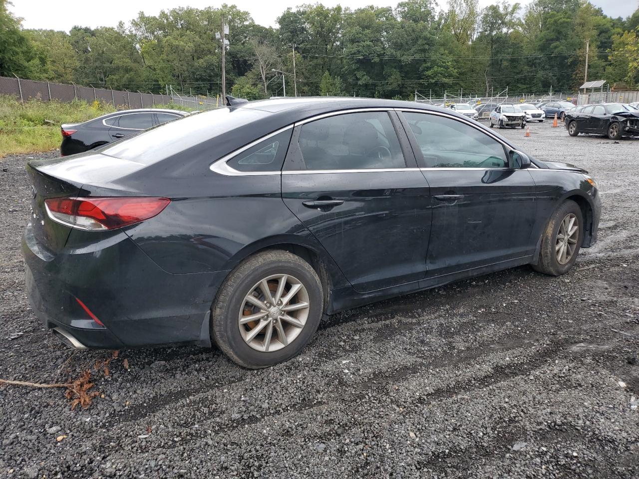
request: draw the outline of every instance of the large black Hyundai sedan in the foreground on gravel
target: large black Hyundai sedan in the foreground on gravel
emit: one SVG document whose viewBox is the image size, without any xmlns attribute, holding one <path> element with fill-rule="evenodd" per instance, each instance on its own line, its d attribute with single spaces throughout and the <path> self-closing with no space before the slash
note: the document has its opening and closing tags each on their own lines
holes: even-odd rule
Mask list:
<svg viewBox="0 0 639 479">
<path fill-rule="evenodd" d="M 217 344 L 260 368 L 324 314 L 523 264 L 573 267 L 601 206 L 456 112 L 264 100 L 32 160 L 31 306 L 77 348 Z"/>
</svg>

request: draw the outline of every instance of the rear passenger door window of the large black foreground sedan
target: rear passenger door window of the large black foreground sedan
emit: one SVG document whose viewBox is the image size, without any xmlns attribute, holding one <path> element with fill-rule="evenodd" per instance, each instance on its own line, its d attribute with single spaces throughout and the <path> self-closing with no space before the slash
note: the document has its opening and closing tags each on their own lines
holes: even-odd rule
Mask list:
<svg viewBox="0 0 639 479">
<path fill-rule="evenodd" d="M 387 112 L 348 113 L 305 123 L 298 146 L 307 170 L 406 167 Z"/>
</svg>

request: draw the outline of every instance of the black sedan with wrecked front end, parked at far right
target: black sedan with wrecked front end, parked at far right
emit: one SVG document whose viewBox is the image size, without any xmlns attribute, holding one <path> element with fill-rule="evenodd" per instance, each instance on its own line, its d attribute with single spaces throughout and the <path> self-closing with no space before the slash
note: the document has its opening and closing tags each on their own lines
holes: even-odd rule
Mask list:
<svg viewBox="0 0 639 479">
<path fill-rule="evenodd" d="M 622 136 L 639 136 L 639 110 L 624 103 L 585 105 L 566 112 L 564 125 L 572 137 L 592 133 L 619 140 Z"/>
</svg>

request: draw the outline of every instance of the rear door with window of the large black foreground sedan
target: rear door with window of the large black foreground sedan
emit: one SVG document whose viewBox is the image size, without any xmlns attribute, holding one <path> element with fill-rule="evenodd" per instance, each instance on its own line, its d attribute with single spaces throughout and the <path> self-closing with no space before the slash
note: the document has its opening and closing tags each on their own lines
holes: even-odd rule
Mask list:
<svg viewBox="0 0 639 479">
<path fill-rule="evenodd" d="M 282 199 L 356 291 L 417 285 L 424 277 L 429 188 L 392 110 L 296 124 Z"/>
</svg>

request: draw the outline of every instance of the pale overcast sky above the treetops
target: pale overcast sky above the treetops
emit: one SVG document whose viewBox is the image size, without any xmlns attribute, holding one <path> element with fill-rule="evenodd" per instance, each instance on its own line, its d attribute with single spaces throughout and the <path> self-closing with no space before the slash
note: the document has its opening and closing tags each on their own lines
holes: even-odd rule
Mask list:
<svg viewBox="0 0 639 479">
<path fill-rule="evenodd" d="M 342 4 L 351 9 L 360 8 L 369 4 L 395 6 L 399 0 L 325 0 L 321 3 L 326 6 Z M 606 15 L 611 17 L 627 17 L 639 6 L 639 0 L 591 0 L 593 4 L 603 9 Z M 80 2 L 60 2 L 51 0 L 12 0 L 13 6 L 9 6 L 18 17 L 22 17 L 25 28 L 43 28 L 69 31 L 72 26 L 114 27 L 119 20 L 128 23 L 137 17 L 139 11 L 147 15 L 157 15 L 160 10 L 176 8 L 178 6 L 192 6 L 204 8 L 206 6 L 219 6 L 220 1 L 213 3 L 211 0 L 109 0 L 97 2 L 95 0 Z M 264 26 L 277 26 L 275 20 L 287 7 L 295 7 L 302 3 L 314 3 L 312 1 L 293 0 L 227 0 L 228 4 L 236 4 L 238 8 L 247 10 L 256 23 Z M 440 5 L 445 0 L 440 0 Z M 491 0 L 479 0 L 481 6 L 495 3 Z M 520 0 L 526 4 L 528 0 Z"/>
</svg>

